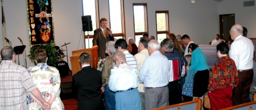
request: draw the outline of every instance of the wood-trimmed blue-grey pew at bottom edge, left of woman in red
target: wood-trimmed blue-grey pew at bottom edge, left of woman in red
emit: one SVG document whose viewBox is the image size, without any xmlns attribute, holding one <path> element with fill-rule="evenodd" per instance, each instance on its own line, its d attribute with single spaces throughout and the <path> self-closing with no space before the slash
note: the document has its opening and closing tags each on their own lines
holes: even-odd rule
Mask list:
<svg viewBox="0 0 256 110">
<path fill-rule="evenodd" d="M 180 104 L 174 104 L 174 105 L 168 105 L 166 107 L 160 107 L 160 108 L 155 108 L 152 110 L 160 110 L 160 109 L 165 109 L 165 110 L 171 110 L 171 109 L 195 109 L 195 110 L 201 110 L 202 107 L 202 100 L 199 98 L 195 98 L 193 101 L 188 101 L 185 103 L 180 103 Z"/>
</svg>

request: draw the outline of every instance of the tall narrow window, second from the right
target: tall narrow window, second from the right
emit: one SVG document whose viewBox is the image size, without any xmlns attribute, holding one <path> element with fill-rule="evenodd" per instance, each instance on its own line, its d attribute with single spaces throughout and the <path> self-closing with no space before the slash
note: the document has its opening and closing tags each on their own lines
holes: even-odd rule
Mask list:
<svg viewBox="0 0 256 110">
<path fill-rule="evenodd" d="M 147 4 L 133 3 L 134 35 L 135 42 L 138 45 L 143 33 L 148 33 L 147 27 Z"/>
</svg>

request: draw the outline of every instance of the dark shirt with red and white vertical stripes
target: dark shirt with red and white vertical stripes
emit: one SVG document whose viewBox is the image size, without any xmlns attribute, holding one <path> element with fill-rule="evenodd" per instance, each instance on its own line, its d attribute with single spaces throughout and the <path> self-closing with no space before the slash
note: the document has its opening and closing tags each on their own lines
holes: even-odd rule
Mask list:
<svg viewBox="0 0 256 110">
<path fill-rule="evenodd" d="M 164 56 L 166 56 L 170 62 L 170 71 L 169 71 L 169 82 L 178 81 L 181 77 L 185 75 L 185 61 L 184 56 L 180 54 L 172 52 L 165 52 Z"/>
</svg>

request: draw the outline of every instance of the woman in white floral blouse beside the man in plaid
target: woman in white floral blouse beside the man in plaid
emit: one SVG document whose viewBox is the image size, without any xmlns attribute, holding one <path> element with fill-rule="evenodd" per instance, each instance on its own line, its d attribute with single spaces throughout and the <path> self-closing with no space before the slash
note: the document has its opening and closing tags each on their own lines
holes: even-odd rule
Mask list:
<svg viewBox="0 0 256 110">
<path fill-rule="evenodd" d="M 55 67 L 47 65 L 46 50 L 35 51 L 36 66 L 28 69 L 31 78 L 42 93 L 43 98 L 51 105 L 51 109 L 64 109 L 60 99 L 60 74 Z M 40 101 L 29 93 L 27 98 L 28 109 L 40 109 Z"/>
</svg>

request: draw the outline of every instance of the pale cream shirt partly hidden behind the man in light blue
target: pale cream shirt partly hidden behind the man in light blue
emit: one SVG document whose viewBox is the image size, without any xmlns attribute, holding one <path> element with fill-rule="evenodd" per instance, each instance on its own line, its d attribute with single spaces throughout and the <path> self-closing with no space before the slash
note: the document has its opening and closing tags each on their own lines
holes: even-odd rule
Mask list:
<svg viewBox="0 0 256 110">
<path fill-rule="evenodd" d="M 147 57 L 149 57 L 148 54 L 148 50 L 144 49 L 141 50 L 141 52 L 135 54 L 134 56 L 136 58 L 137 61 L 137 75 L 138 75 L 138 90 L 139 92 L 144 92 L 144 84 L 143 83 L 139 83 L 139 70 L 141 69 L 142 65 L 144 64 L 144 61 L 146 60 Z"/>
</svg>

